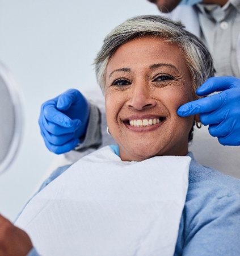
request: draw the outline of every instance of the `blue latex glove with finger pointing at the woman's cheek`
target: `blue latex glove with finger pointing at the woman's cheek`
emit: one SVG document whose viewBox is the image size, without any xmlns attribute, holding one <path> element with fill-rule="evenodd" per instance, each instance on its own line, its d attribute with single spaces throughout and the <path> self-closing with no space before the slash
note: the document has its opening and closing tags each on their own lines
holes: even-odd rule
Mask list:
<svg viewBox="0 0 240 256">
<path fill-rule="evenodd" d="M 180 106 L 178 115 L 200 114 L 204 125 L 209 125 L 209 133 L 217 137 L 223 145 L 240 145 L 240 79 L 236 77 L 211 77 L 201 85 L 196 93 L 205 96 Z"/>
</svg>

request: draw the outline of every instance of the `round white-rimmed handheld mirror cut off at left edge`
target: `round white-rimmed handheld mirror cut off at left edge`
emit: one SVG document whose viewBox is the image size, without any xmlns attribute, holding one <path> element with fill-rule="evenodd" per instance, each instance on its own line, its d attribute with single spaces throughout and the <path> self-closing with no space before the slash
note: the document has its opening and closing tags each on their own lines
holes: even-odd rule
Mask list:
<svg viewBox="0 0 240 256">
<path fill-rule="evenodd" d="M 0 62 L 0 174 L 10 166 L 22 137 L 23 115 L 20 89 Z"/>
</svg>

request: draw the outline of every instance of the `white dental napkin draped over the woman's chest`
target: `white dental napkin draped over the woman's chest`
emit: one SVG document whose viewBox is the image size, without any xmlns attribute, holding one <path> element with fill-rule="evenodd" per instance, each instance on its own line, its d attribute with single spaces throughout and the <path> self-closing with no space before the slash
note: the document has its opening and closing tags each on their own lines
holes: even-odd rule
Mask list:
<svg viewBox="0 0 240 256">
<path fill-rule="evenodd" d="M 28 203 L 16 225 L 47 255 L 173 255 L 189 156 L 85 156 Z"/>
</svg>

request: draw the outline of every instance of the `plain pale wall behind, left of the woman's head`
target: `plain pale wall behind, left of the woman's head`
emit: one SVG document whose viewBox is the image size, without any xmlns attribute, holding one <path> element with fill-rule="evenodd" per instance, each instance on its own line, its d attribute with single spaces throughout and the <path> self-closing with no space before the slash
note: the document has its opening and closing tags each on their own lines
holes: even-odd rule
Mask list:
<svg viewBox="0 0 240 256">
<path fill-rule="evenodd" d="M 41 104 L 95 85 L 91 64 L 104 36 L 131 16 L 158 13 L 146 0 L 0 0 L 0 60 L 21 86 L 25 110 L 22 145 L 0 176 L 1 214 L 14 220 L 54 158 L 37 123 Z"/>
</svg>

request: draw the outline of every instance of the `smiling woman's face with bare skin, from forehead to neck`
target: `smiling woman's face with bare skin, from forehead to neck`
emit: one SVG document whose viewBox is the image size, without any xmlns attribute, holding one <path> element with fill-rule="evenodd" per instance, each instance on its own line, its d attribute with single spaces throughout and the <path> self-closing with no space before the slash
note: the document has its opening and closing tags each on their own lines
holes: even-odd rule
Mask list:
<svg viewBox="0 0 240 256">
<path fill-rule="evenodd" d="M 192 79 L 174 43 L 145 36 L 117 49 L 106 69 L 106 114 L 122 160 L 186 155 L 194 117 L 179 117 L 192 101 Z"/>
</svg>

